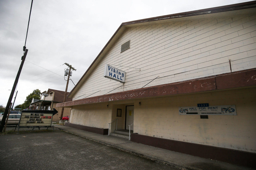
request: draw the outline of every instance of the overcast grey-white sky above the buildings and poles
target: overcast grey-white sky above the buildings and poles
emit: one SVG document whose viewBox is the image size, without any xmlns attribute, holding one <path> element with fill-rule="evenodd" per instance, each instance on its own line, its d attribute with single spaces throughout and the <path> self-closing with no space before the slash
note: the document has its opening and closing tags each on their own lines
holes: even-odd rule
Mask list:
<svg viewBox="0 0 256 170">
<path fill-rule="evenodd" d="M 28 54 L 14 106 L 22 104 L 34 89 L 65 91 L 65 62 L 77 69 L 71 77 L 76 84 L 122 22 L 241 2 L 247 1 L 34 0 L 26 42 Z M 3 106 L 7 104 L 23 56 L 30 6 L 31 0 L 0 0 L 0 105 Z M 74 84 L 69 82 L 68 91 Z"/>
</svg>

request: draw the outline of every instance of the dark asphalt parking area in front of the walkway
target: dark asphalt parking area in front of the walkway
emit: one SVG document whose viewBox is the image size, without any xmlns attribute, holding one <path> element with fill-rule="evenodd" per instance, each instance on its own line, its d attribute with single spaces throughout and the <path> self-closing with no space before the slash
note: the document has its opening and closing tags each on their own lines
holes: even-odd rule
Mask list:
<svg viewBox="0 0 256 170">
<path fill-rule="evenodd" d="M 178 169 L 57 128 L 0 134 L 0 141 L 0 169 Z"/>
</svg>

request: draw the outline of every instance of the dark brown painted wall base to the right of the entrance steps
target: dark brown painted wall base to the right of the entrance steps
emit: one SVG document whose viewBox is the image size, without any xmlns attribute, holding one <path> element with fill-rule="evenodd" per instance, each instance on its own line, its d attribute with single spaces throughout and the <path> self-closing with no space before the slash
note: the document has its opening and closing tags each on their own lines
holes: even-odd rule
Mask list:
<svg viewBox="0 0 256 170">
<path fill-rule="evenodd" d="M 251 152 L 162 139 L 134 133 L 131 134 L 131 141 L 202 158 L 256 168 L 256 154 Z"/>
</svg>

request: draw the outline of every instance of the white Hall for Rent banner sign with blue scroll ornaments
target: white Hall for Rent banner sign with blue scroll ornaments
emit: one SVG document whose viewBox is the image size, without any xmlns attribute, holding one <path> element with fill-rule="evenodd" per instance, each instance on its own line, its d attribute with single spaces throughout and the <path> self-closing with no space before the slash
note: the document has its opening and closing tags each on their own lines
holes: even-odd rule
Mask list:
<svg viewBox="0 0 256 170">
<path fill-rule="evenodd" d="M 235 105 L 219 105 L 208 107 L 179 107 L 180 115 L 237 115 Z"/>
</svg>

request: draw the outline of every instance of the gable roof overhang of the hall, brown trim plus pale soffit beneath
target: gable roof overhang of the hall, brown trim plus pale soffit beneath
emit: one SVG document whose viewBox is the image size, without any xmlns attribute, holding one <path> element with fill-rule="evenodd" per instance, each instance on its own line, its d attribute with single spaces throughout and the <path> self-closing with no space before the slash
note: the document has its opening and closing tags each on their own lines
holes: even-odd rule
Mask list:
<svg viewBox="0 0 256 170">
<path fill-rule="evenodd" d="M 147 25 L 147 24 L 156 24 L 156 23 L 160 24 L 160 23 L 165 23 L 170 20 L 177 21 L 177 20 L 181 20 L 181 19 L 185 20 L 185 19 L 192 19 L 192 18 L 202 19 L 208 15 L 211 15 L 211 17 L 218 17 L 218 16 L 222 15 L 221 12 L 226 12 L 229 15 L 236 15 L 236 10 L 249 9 L 249 8 L 255 8 L 255 7 L 256 7 L 256 1 L 250 1 L 250 2 L 244 2 L 244 3 L 239 3 L 239 4 L 232 4 L 232 5 L 220 6 L 220 7 L 214 7 L 214 8 L 182 12 L 182 13 L 178 13 L 178 14 L 146 18 L 146 19 L 135 20 L 135 21 L 130 21 L 130 22 L 123 22 L 120 25 L 120 27 L 116 30 L 114 35 L 107 42 L 107 44 L 100 51 L 99 55 L 95 58 L 95 60 L 89 66 L 87 71 L 83 74 L 83 76 L 78 81 L 78 83 L 70 91 L 70 93 L 67 97 L 69 97 L 74 92 L 76 92 L 76 90 L 81 86 L 82 82 L 92 72 L 93 69 L 91 69 L 91 68 L 93 68 L 101 60 L 101 58 L 104 56 L 104 54 L 106 54 L 108 52 L 111 45 L 122 35 L 123 31 L 128 27 L 136 27 L 136 26 L 142 26 L 142 25 Z M 254 11 L 254 13 L 255 13 L 255 11 Z"/>
</svg>

